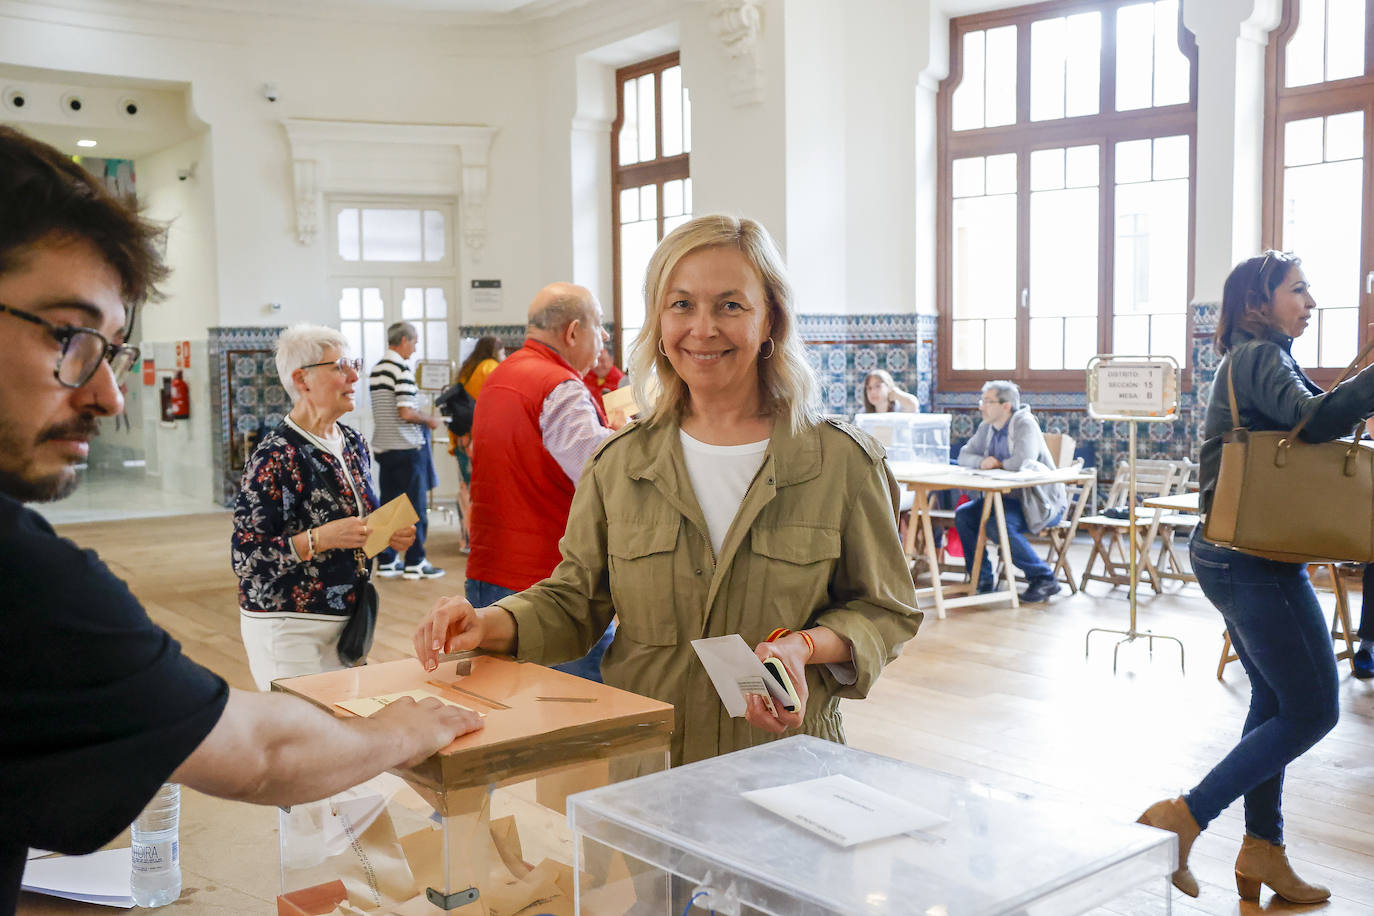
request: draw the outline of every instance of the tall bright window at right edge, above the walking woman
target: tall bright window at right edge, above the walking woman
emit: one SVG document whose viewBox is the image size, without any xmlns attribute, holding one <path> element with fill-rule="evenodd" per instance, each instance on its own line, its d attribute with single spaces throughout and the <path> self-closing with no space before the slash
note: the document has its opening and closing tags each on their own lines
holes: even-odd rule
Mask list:
<svg viewBox="0 0 1374 916">
<path fill-rule="evenodd" d="M 1316 320 L 1293 342 L 1331 382 L 1374 320 L 1374 10 L 1286 0 L 1270 38 L 1264 243 L 1303 258 Z"/>
</svg>

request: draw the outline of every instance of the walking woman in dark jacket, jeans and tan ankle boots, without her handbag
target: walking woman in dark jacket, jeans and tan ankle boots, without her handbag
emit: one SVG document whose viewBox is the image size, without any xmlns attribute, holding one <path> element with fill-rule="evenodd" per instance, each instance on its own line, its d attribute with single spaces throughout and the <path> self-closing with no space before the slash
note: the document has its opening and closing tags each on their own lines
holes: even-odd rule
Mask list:
<svg viewBox="0 0 1374 916">
<path fill-rule="evenodd" d="M 1303 423 L 1298 438 L 1304 442 L 1349 434 L 1374 412 L 1374 369 L 1323 393 L 1293 358 L 1293 338 L 1307 330 L 1315 305 L 1292 254 L 1268 251 L 1249 258 L 1227 277 L 1216 330 L 1216 349 L 1224 358 L 1204 422 L 1204 519 L 1217 493 L 1223 435 L 1235 424 L 1231 394 L 1241 427 L 1290 430 Z M 1309 483 L 1323 486 L 1320 479 Z M 1330 891 L 1298 878 L 1287 861 L 1282 792 L 1285 768 L 1331 731 L 1340 715 L 1331 636 L 1304 563 L 1221 547 L 1206 540 L 1205 527 L 1200 525 L 1193 536 L 1193 570 L 1226 619 L 1250 677 L 1250 711 L 1231 753 L 1186 795 L 1151 805 L 1140 823 L 1179 835 L 1173 886 L 1197 897 L 1189 849 L 1217 814 L 1243 797 L 1245 839 L 1235 860 L 1241 897 L 1256 900 L 1260 886 L 1268 884 L 1294 904 L 1323 901 Z"/>
</svg>

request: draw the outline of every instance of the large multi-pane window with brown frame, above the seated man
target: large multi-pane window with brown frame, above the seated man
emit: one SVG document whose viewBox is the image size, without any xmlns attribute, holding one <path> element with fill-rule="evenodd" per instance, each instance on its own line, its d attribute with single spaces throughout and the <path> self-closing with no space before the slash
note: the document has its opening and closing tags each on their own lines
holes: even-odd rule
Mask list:
<svg viewBox="0 0 1374 916">
<path fill-rule="evenodd" d="M 1186 364 L 1197 51 L 1178 0 L 949 23 L 940 87 L 940 386 L 1083 385 L 1095 353 Z"/>
</svg>

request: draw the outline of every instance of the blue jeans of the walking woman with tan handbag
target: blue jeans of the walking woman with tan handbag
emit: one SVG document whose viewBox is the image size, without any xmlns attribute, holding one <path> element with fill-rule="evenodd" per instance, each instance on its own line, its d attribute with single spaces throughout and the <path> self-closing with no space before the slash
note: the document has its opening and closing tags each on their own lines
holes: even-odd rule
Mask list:
<svg viewBox="0 0 1374 916">
<path fill-rule="evenodd" d="M 1231 645 L 1250 676 L 1241 742 L 1184 798 L 1200 827 L 1245 797 L 1245 832 L 1283 842 L 1283 769 L 1336 726 L 1331 633 L 1301 563 L 1190 545 L 1204 595 L 1221 611 Z"/>
</svg>

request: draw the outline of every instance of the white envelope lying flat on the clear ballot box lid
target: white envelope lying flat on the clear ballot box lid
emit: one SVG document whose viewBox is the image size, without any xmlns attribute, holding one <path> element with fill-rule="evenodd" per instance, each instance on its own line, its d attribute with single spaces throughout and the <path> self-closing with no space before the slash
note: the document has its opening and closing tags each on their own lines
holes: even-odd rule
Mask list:
<svg viewBox="0 0 1374 916">
<path fill-rule="evenodd" d="M 757 788 L 742 795 L 837 846 L 855 846 L 915 829 L 930 829 L 947 820 L 842 773 Z"/>
</svg>

